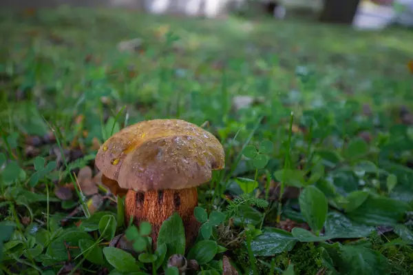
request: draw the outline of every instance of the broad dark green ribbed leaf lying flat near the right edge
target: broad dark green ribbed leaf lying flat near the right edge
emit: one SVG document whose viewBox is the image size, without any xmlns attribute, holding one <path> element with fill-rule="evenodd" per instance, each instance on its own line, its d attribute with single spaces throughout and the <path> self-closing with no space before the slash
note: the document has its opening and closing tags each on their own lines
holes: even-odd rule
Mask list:
<svg viewBox="0 0 413 275">
<path fill-rule="evenodd" d="M 403 201 L 397 201 L 384 196 L 368 196 L 366 201 L 347 216 L 352 221 L 366 225 L 396 225 L 403 219 L 405 212 L 411 209 Z"/>
</svg>

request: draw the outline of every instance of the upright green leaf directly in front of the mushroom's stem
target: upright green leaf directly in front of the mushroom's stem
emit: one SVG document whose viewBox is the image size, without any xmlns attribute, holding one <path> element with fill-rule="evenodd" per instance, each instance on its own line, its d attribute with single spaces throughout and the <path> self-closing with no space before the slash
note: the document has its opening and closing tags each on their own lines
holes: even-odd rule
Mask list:
<svg viewBox="0 0 413 275">
<path fill-rule="evenodd" d="M 157 245 L 167 245 L 167 258 L 172 254 L 185 253 L 185 230 L 182 218 L 178 213 L 173 213 L 162 223 L 158 234 Z"/>
</svg>

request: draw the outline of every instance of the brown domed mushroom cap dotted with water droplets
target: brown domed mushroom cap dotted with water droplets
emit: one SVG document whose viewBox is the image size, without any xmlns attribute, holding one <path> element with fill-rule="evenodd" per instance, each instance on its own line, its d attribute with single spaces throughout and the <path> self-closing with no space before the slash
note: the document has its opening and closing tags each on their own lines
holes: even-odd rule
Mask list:
<svg viewBox="0 0 413 275">
<path fill-rule="evenodd" d="M 179 119 L 154 119 L 111 136 L 96 166 L 126 190 L 181 190 L 211 179 L 224 167 L 224 149 L 210 132 Z"/>
</svg>

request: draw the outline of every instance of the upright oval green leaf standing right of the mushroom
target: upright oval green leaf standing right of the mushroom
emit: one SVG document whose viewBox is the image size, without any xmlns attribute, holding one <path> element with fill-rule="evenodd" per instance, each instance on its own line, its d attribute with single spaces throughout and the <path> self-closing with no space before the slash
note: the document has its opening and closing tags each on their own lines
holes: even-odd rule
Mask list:
<svg viewBox="0 0 413 275">
<path fill-rule="evenodd" d="M 327 218 L 328 202 L 323 192 L 310 185 L 299 196 L 301 213 L 311 230 L 318 236 Z"/>
</svg>

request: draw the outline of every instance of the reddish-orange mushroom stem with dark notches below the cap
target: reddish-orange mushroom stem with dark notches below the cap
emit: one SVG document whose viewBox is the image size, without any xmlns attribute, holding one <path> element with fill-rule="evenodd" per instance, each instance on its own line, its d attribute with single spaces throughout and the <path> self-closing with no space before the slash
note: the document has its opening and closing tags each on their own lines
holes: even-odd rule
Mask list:
<svg viewBox="0 0 413 275">
<path fill-rule="evenodd" d="M 162 223 L 174 212 L 178 212 L 184 223 L 187 247 L 195 241 L 200 228 L 193 210 L 198 205 L 196 187 L 182 190 L 153 190 L 135 192 L 129 190 L 125 198 L 125 217 L 129 223 L 134 216 L 134 224 L 148 221 L 152 225 L 153 247 L 156 249 L 156 240 Z"/>
</svg>

